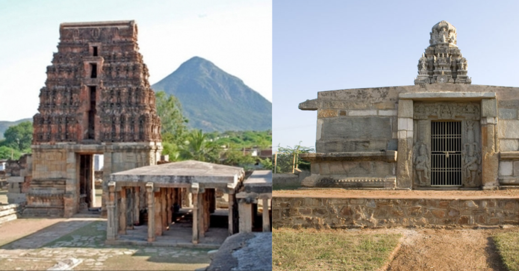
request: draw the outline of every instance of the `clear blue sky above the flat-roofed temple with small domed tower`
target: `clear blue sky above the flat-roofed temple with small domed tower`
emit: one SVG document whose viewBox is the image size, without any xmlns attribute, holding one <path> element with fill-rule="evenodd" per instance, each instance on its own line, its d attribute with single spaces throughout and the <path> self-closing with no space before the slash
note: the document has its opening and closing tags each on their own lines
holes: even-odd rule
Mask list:
<svg viewBox="0 0 519 271">
<path fill-rule="evenodd" d="M 413 85 L 434 24 L 458 34 L 472 84 L 519 87 L 518 1 L 274 1 L 273 146 L 315 146 L 327 90 Z M 519 95 L 519 93 L 518 93 Z"/>
</svg>

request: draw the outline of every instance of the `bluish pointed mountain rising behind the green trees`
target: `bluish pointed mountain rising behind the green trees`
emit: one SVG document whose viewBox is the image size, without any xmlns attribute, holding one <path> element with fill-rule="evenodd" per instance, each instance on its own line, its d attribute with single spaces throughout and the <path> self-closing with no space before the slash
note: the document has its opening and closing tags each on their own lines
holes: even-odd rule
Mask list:
<svg viewBox="0 0 519 271">
<path fill-rule="evenodd" d="M 188 126 L 212 131 L 272 129 L 272 103 L 210 61 L 195 56 L 152 85 L 182 104 Z"/>
</svg>

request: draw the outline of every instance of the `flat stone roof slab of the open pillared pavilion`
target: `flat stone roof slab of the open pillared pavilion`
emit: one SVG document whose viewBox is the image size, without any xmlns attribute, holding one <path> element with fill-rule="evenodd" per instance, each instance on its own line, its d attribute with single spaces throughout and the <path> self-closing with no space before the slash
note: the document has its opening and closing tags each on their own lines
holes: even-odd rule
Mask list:
<svg viewBox="0 0 519 271">
<path fill-rule="evenodd" d="M 234 183 L 243 168 L 199 161 L 182 161 L 138 167 L 110 175 L 111 181 L 154 183 Z"/>
</svg>

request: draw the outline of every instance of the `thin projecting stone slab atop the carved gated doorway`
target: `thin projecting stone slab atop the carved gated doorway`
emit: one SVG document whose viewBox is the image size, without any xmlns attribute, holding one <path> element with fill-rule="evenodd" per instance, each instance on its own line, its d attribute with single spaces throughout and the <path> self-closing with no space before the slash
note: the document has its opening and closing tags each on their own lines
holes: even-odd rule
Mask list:
<svg viewBox="0 0 519 271">
<path fill-rule="evenodd" d="M 400 99 L 412 99 L 413 101 L 481 101 L 482 99 L 496 98 L 495 92 L 414 92 L 400 93 Z"/>
</svg>

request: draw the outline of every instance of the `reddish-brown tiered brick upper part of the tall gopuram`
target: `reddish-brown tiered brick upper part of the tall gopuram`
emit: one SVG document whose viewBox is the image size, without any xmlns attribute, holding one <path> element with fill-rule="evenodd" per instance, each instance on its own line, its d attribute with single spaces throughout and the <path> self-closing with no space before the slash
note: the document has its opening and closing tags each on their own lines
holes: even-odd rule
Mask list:
<svg viewBox="0 0 519 271">
<path fill-rule="evenodd" d="M 134 21 L 63 23 L 34 116 L 33 144 L 160 142 Z"/>
</svg>

